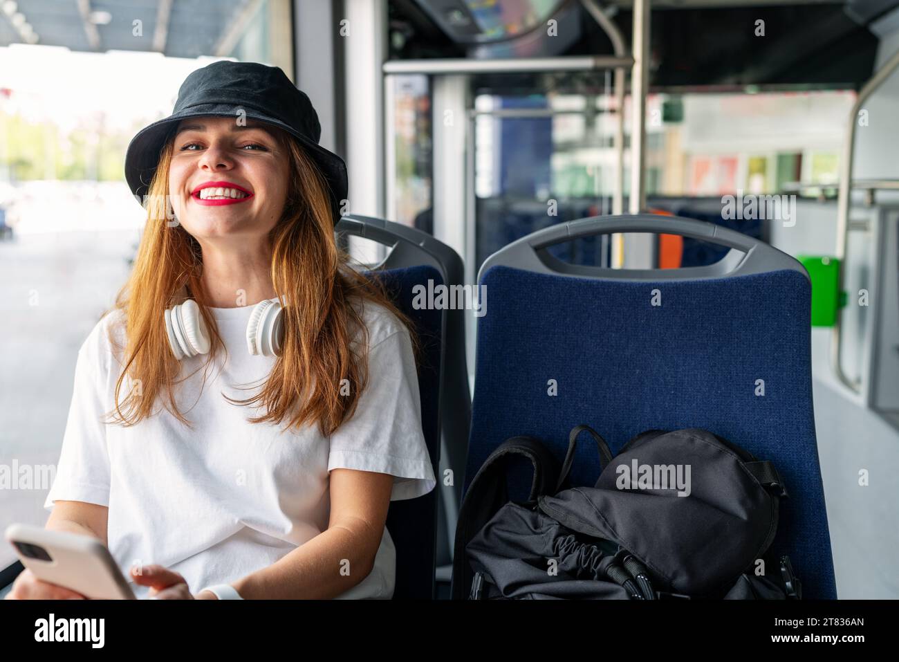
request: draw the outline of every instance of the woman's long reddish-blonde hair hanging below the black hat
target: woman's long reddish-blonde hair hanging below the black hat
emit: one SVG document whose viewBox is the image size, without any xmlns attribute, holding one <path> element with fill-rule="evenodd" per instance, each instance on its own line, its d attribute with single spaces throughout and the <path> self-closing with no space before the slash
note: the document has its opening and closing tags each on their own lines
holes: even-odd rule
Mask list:
<svg viewBox="0 0 899 662">
<path fill-rule="evenodd" d="M 389 300 L 384 286 L 357 273 L 350 256 L 336 245 L 331 197 L 315 162 L 298 141 L 276 133 L 287 148 L 290 165 L 288 199 L 270 234 L 271 281 L 282 305 L 289 302 L 283 313 L 284 339 L 259 393 L 243 400 L 225 398 L 236 405 L 264 407 L 264 415 L 249 418 L 251 423 L 280 424 L 287 418 L 289 428 L 317 424 L 327 436 L 352 416 L 368 383 L 368 329 L 353 302 L 373 301 L 386 307 L 409 329 L 416 353 L 419 344 L 410 320 Z M 116 381 L 112 422 L 125 426 L 152 416 L 158 398 L 192 427 L 174 397 L 180 362 L 169 348 L 165 309 L 188 297 L 197 302 L 211 339 L 206 367 L 224 348 L 200 278 L 200 245 L 166 215 L 173 142 L 169 139 L 162 149 L 149 185 L 147 225 L 129 280 L 108 311 L 124 314 L 127 359 Z M 361 351 L 353 346 L 356 331 L 361 334 Z M 129 389 L 120 403 L 126 373 L 139 388 Z"/>
</svg>

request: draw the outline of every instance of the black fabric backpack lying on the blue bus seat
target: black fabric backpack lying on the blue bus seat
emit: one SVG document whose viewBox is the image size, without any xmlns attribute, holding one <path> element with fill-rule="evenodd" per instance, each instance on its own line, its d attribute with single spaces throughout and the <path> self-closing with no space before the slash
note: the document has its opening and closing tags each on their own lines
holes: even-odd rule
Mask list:
<svg viewBox="0 0 899 662">
<path fill-rule="evenodd" d="M 592 434 L 601 475 L 570 487 L 578 435 Z M 510 461 L 530 461 L 525 502 L 510 501 Z M 786 599 L 801 585 L 768 552 L 778 470 L 699 428 L 636 435 L 614 458 L 587 425 L 561 469 L 539 440 L 512 437 L 484 462 L 459 511 L 453 599 Z M 772 571 L 773 570 L 773 571 Z"/>
</svg>

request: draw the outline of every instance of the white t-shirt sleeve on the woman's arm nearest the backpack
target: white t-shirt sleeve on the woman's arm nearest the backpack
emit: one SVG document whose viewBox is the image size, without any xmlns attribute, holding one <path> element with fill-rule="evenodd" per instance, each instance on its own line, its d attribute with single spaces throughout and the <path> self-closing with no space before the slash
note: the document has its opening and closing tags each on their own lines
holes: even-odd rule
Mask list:
<svg viewBox="0 0 899 662">
<path fill-rule="evenodd" d="M 356 411 L 331 435 L 328 471 L 334 469 L 392 474 L 391 501 L 421 497 L 436 485 L 405 327 L 369 350 L 369 380 Z"/>
</svg>

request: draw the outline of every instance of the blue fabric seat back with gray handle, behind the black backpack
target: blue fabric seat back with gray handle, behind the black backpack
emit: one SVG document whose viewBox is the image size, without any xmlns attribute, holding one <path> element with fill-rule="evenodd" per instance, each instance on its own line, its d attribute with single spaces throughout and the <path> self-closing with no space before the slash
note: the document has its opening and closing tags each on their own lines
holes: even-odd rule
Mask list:
<svg viewBox="0 0 899 662">
<path fill-rule="evenodd" d="M 642 271 L 565 264 L 547 251 L 617 232 L 679 234 L 730 250 L 716 264 Z M 487 455 L 517 434 L 543 440 L 561 461 L 574 425 L 591 425 L 612 452 L 648 429 L 705 428 L 775 463 L 789 497 L 772 550 L 789 555 L 807 597 L 836 596 L 812 410 L 811 285 L 801 264 L 698 220 L 597 217 L 506 246 L 478 282 L 490 296 L 477 327 L 466 489 Z M 593 485 L 600 470 L 595 447 L 579 444 L 573 483 Z M 511 498 L 526 497 L 526 473 L 512 471 Z"/>
</svg>

